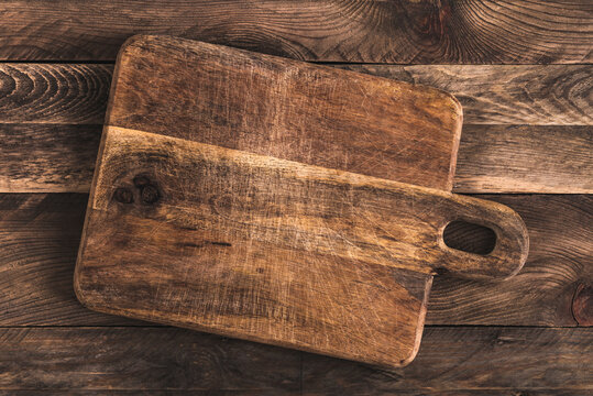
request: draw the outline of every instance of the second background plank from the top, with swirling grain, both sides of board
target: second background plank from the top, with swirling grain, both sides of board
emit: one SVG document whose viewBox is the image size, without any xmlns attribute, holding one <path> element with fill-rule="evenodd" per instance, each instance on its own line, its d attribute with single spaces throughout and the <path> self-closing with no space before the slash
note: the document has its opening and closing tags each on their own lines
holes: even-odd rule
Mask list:
<svg viewBox="0 0 593 396">
<path fill-rule="evenodd" d="M 334 66 L 449 91 L 465 124 L 593 123 L 591 65 Z M 0 64 L 0 123 L 102 123 L 112 68 Z"/>
</svg>

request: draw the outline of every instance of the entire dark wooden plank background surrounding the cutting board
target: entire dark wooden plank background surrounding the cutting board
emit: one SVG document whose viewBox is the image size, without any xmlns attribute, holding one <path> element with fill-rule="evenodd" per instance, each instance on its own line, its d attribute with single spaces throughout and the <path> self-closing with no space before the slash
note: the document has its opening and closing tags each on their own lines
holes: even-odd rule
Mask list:
<svg viewBox="0 0 593 396">
<path fill-rule="evenodd" d="M 134 33 L 457 95 L 454 190 L 517 210 L 528 263 L 501 284 L 438 277 L 418 358 L 395 372 L 83 308 L 87 191 Z M 591 0 L 4 0 L 0 61 L 0 394 L 593 392 Z"/>
</svg>

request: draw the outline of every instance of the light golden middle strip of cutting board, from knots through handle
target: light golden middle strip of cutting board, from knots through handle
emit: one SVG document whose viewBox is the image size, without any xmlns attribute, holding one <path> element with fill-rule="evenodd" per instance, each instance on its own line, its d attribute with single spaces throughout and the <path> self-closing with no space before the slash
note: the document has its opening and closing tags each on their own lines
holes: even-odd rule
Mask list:
<svg viewBox="0 0 593 396">
<path fill-rule="evenodd" d="M 471 277 L 510 276 L 527 255 L 509 208 L 437 189 L 116 127 L 103 130 L 99 158 L 89 209 L 114 221 L 133 216 L 216 240 Z M 455 219 L 494 229 L 495 250 L 447 249 L 438 233 Z M 99 230 L 88 232 L 91 243 Z"/>
</svg>

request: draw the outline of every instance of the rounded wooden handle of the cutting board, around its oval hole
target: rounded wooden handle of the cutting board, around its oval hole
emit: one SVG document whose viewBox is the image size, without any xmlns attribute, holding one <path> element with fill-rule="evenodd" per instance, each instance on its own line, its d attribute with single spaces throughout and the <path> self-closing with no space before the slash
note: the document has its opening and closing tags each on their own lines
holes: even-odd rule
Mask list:
<svg viewBox="0 0 593 396">
<path fill-rule="evenodd" d="M 469 278 L 504 279 L 515 275 L 525 264 L 529 237 L 523 219 L 510 208 L 483 199 L 451 195 L 454 204 L 446 211 L 440 224 L 439 248 L 442 257 L 436 273 L 451 272 Z M 453 221 L 464 221 L 494 231 L 496 242 L 487 254 L 450 248 L 443 231 Z"/>
</svg>

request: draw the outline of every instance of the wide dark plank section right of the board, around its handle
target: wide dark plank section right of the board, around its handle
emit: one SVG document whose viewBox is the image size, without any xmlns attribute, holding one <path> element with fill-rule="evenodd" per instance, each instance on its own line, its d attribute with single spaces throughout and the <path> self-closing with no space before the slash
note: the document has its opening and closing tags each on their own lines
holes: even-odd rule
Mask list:
<svg viewBox="0 0 593 396">
<path fill-rule="evenodd" d="M 481 197 L 508 205 L 525 220 L 527 264 L 503 283 L 436 277 L 427 323 L 591 326 L 593 196 Z"/>
</svg>

